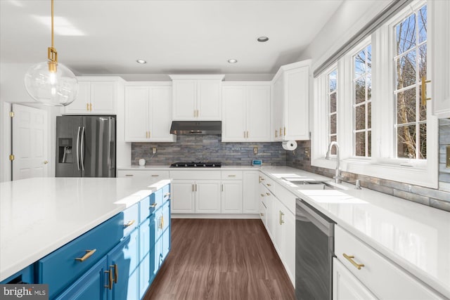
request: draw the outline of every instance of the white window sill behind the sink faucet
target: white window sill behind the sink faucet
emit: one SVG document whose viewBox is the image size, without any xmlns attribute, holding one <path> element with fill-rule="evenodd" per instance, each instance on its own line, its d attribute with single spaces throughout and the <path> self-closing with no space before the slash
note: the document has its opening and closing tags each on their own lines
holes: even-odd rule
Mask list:
<svg viewBox="0 0 450 300">
<path fill-rule="evenodd" d="M 336 159 L 327 160 L 324 157 L 311 159 L 311 166 L 335 169 Z M 406 167 L 399 164 L 375 164 L 369 158 L 347 158 L 341 159 L 340 168 L 345 172 L 420 185 L 427 188 L 437 188 L 438 185 L 437 169 L 430 167 L 430 164 Z"/>
</svg>

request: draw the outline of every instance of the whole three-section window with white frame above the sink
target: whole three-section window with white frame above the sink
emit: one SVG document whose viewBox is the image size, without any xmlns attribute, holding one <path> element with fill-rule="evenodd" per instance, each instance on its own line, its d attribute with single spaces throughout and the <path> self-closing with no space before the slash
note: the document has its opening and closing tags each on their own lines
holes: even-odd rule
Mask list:
<svg viewBox="0 0 450 300">
<path fill-rule="evenodd" d="M 437 119 L 420 103 L 431 18 L 411 1 L 314 79 L 312 166 L 334 169 L 338 141 L 342 171 L 437 188 Z"/>
</svg>

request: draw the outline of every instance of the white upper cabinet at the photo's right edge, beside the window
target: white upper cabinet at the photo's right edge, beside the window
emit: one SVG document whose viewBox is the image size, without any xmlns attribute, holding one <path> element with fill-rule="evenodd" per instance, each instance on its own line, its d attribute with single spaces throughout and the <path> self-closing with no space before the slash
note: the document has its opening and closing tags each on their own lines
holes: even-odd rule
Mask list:
<svg viewBox="0 0 450 300">
<path fill-rule="evenodd" d="M 428 1 L 430 13 L 428 60 L 430 61 L 432 114 L 439 118 L 450 117 L 450 1 Z"/>
</svg>

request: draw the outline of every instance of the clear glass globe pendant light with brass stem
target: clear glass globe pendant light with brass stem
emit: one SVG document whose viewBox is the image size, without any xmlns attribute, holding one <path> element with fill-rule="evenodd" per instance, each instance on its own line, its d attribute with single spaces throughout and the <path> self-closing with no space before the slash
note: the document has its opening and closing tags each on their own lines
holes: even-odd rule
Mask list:
<svg viewBox="0 0 450 300">
<path fill-rule="evenodd" d="M 58 63 L 53 41 L 53 0 L 51 0 L 51 47 L 48 61 L 33 65 L 25 74 L 25 88 L 39 103 L 51 106 L 69 105 L 77 98 L 78 81 L 75 74 Z"/>
</svg>

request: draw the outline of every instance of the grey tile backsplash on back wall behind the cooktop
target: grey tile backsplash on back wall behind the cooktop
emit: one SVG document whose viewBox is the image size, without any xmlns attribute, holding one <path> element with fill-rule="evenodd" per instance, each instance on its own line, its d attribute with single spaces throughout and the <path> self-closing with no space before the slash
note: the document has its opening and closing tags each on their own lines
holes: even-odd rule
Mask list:
<svg viewBox="0 0 450 300">
<path fill-rule="evenodd" d="M 155 155 L 152 148 L 156 148 Z M 257 155 L 253 149 L 257 148 Z M 222 162 L 225 166 L 251 166 L 262 159 L 266 166 L 284 166 L 286 152 L 281 143 L 222 143 L 221 136 L 176 136 L 176 143 L 131 143 L 131 164 L 168 166 L 172 162 Z"/>
</svg>

